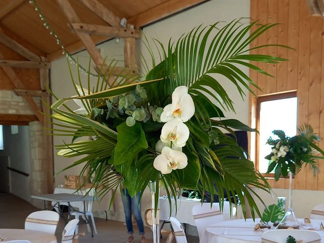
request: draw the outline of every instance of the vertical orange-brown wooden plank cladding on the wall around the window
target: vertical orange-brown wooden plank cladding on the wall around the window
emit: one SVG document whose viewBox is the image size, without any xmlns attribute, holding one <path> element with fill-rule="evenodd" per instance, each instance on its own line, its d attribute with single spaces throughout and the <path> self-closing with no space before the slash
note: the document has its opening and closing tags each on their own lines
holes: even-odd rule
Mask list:
<svg viewBox="0 0 324 243">
<path fill-rule="evenodd" d="M 259 64 L 260 68 L 275 76 L 274 80 L 251 72 L 251 79 L 263 91 L 258 91 L 258 96 L 297 90 L 298 125 L 311 125 L 324 139 L 324 19 L 311 16 L 305 0 L 254 0 L 251 1 L 251 18 L 259 19 L 262 24 L 280 23 L 268 31 L 266 37 L 260 37 L 258 45 L 280 44 L 295 49 L 268 48 L 258 51 L 259 54 L 289 59 L 278 65 Z M 323 141 L 319 145 L 324 149 Z M 324 161 L 319 161 L 319 167 L 321 172 L 315 179 L 311 171 L 303 169 L 295 176 L 293 187 L 324 190 Z M 269 182 L 274 188 L 289 187 L 287 179 L 278 182 L 269 179 Z"/>
</svg>

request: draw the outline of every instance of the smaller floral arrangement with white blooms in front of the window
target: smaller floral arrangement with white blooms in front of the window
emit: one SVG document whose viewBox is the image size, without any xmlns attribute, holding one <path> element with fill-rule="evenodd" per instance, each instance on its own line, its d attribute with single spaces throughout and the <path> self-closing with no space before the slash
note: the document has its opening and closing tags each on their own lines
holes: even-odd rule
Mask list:
<svg viewBox="0 0 324 243">
<path fill-rule="evenodd" d="M 297 174 L 303 164 L 308 165 L 314 175 L 317 173 L 316 159 L 324 159 L 324 151 L 316 145 L 320 139 L 313 133 L 311 126 L 298 127 L 297 135 L 291 138 L 281 130 L 274 130 L 272 133 L 278 136 L 278 139 L 270 137 L 267 141 L 267 144 L 272 146 L 271 153 L 265 156 L 269 159 L 267 173 L 274 170 L 274 178 L 277 181 L 280 175 L 287 177 L 289 171 Z"/>
</svg>

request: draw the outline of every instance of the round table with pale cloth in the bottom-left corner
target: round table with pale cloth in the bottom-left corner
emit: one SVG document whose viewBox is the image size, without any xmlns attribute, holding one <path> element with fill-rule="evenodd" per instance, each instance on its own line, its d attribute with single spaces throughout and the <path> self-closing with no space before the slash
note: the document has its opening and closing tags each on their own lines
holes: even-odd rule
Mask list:
<svg viewBox="0 0 324 243">
<path fill-rule="evenodd" d="M 57 243 L 54 234 L 27 229 L 0 229 L 1 242 L 9 240 L 29 240 L 31 243 Z"/>
</svg>

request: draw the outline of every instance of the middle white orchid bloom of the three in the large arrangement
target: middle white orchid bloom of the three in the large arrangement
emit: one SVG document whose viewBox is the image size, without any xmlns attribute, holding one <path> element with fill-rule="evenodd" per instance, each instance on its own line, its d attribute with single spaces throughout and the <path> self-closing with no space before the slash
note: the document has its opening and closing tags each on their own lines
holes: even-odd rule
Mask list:
<svg viewBox="0 0 324 243">
<path fill-rule="evenodd" d="M 180 118 L 168 121 L 162 128 L 160 139 L 164 143 L 172 142 L 177 147 L 183 147 L 189 138 L 189 129 Z"/>
</svg>

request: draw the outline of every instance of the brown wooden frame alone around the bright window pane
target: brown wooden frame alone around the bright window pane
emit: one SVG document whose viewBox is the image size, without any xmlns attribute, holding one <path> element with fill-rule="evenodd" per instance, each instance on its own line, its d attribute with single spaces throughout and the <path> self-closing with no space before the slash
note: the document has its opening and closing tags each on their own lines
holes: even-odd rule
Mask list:
<svg viewBox="0 0 324 243">
<path fill-rule="evenodd" d="M 282 99 L 289 99 L 289 98 L 297 98 L 297 91 L 290 91 L 290 92 L 285 92 L 285 93 L 278 93 L 278 94 L 269 94 L 269 95 L 262 95 L 258 96 L 256 99 L 256 129 L 260 131 L 260 108 L 261 108 L 261 103 L 265 101 L 273 101 L 273 100 L 282 100 Z M 297 101 L 298 105 L 298 101 Z M 297 112 L 298 112 L 298 107 L 297 107 Z M 259 170 L 259 133 L 256 133 L 255 136 L 255 168 Z M 273 173 L 262 173 L 264 177 L 268 178 L 274 178 Z M 282 176 L 280 176 L 282 177 Z M 285 178 L 285 177 L 282 177 Z"/>
</svg>

